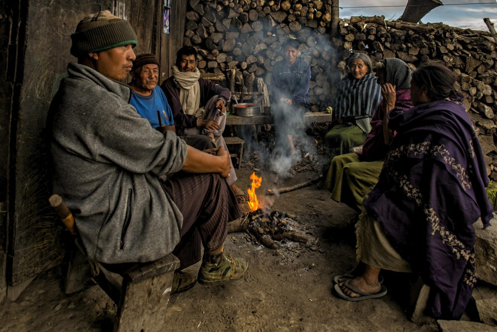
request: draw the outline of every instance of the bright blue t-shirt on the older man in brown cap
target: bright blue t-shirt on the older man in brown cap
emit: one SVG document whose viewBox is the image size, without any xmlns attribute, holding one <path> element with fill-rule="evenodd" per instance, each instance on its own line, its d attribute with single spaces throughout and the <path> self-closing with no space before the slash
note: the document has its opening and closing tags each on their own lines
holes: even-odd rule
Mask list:
<svg viewBox="0 0 497 332">
<path fill-rule="evenodd" d="M 162 125 L 174 124 L 171 107 L 167 104 L 166 95 L 164 95 L 164 92 L 158 86 L 152 90 L 150 96 L 142 96 L 131 90 L 131 100 L 129 103 L 134 106 L 138 114 L 149 120 L 153 128 L 159 126 L 157 111 L 161 113 Z"/>
</svg>

